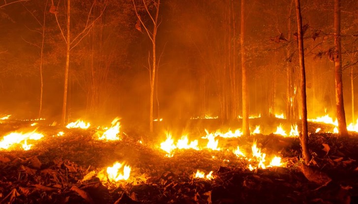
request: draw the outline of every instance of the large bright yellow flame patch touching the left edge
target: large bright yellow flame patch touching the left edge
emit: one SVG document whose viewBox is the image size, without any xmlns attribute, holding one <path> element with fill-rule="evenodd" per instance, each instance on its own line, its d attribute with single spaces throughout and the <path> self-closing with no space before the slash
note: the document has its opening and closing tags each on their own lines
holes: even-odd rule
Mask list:
<svg viewBox="0 0 358 204">
<path fill-rule="evenodd" d="M 27 144 L 27 140 L 39 140 L 42 137 L 44 137 L 43 134 L 41 133 L 37 133 L 35 132 L 35 130 L 33 130 L 32 132 L 28 132 L 23 134 L 22 132 L 12 132 L 6 136 L 4 136 L 2 138 L 2 140 L 0 141 L 0 149 L 10 149 L 12 146 L 16 145 L 16 144 L 21 144 L 22 142 L 24 142 L 24 144 L 22 145 L 24 150 L 30 150 L 32 145 L 28 145 Z"/>
</svg>

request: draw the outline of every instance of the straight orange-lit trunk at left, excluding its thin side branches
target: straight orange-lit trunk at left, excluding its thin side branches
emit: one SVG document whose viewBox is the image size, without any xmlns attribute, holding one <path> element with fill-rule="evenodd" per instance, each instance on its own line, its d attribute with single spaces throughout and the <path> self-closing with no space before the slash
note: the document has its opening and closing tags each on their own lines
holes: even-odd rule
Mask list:
<svg viewBox="0 0 358 204">
<path fill-rule="evenodd" d="M 67 106 L 67 88 L 68 88 L 68 70 L 70 65 L 70 0 L 67 0 L 67 35 L 66 35 L 66 67 L 64 69 L 64 87 L 62 103 L 62 125 L 66 123 L 66 106 Z"/>
</svg>

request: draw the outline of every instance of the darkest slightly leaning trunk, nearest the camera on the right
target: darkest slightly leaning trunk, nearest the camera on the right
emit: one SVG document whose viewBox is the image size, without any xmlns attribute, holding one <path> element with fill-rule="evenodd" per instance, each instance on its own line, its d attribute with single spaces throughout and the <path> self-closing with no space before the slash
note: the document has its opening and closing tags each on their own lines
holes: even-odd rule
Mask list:
<svg viewBox="0 0 358 204">
<path fill-rule="evenodd" d="M 311 160 L 311 154 L 308 150 L 308 130 L 307 130 L 307 104 L 306 104 L 306 74 L 304 69 L 304 50 L 303 50 L 303 32 L 302 32 L 302 16 L 299 0 L 296 0 L 296 16 L 298 28 L 298 54 L 301 78 L 301 121 L 302 131 L 300 134 L 300 142 L 302 147 L 302 156 L 306 164 Z"/>
</svg>

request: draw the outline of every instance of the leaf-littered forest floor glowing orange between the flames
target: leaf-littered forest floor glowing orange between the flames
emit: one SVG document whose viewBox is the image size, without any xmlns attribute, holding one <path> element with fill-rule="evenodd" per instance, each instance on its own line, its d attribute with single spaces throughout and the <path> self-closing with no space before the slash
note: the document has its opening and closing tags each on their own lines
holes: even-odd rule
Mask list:
<svg viewBox="0 0 358 204">
<path fill-rule="evenodd" d="M 24 131 L 29 124 L 0 124 L 0 135 Z M 311 129 L 315 126 L 310 124 Z M 220 138 L 221 151 L 176 150 L 167 157 L 160 149 L 166 135 L 139 128 L 123 127 L 119 141 L 98 140 L 92 128 L 64 130 L 47 125 L 37 131 L 45 137 L 31 143 L 29 151 L 0 149 L 0 204 L 358 203 L 357 133 L 344 138 L 310 133 L 314 158 L 308 168 L 300 161 L 298 137 Z M 64 135 L 58 136 L 59 131 Z M 203 140 L 197 129 L 191 128 L 191 133 Z M 263 153 L 281 156 L 284 165 L 249 170 L 254 161 L 232 150 L 239 145 L 250 152 L 254 140 Z M 99 178 L 116 161 L 131 167 L 128 180 Z M 212 178 L 195 178 L 197 170 L 213 171 Z"/>
</svg>

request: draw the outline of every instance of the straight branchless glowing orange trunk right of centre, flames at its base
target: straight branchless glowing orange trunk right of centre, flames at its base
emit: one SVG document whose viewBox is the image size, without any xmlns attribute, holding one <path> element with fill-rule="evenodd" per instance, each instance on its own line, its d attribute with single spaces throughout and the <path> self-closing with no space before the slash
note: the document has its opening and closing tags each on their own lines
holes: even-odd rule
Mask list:
<svg viewBox="0 0 358 204">
<path fill-rule="evenodd" d="M 244 46 L 244 33 L 245 33 L 245 0 L 241 0 L 241 16 L 240 16 L 240 45 L 241 45 L 241 74 L 242 74 L 242 133 L 243 135 L 250 135 L 249 125 L 249 101 L 248 101 L 248 87 L 247 87 L 247 74 L 246 74 L 246 57 Z"/>
</svg>

